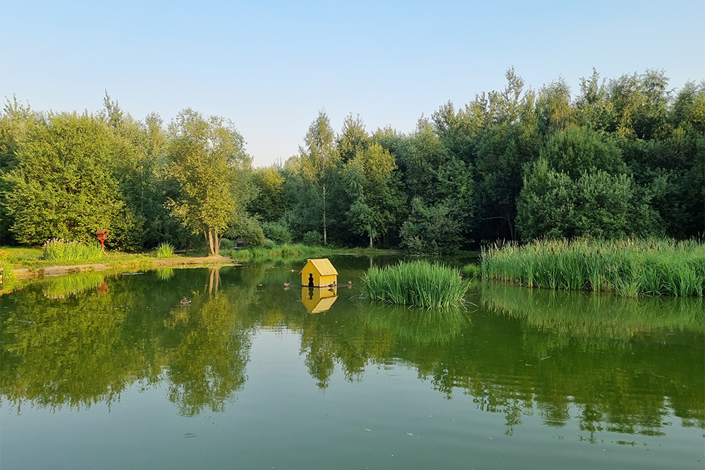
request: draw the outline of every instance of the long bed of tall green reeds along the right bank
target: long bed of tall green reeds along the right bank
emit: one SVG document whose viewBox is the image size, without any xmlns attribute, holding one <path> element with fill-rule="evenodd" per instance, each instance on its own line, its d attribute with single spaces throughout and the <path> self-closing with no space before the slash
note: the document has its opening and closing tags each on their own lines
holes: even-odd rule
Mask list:
<svg viewBox="0 0 705 470">
<path fill-rule="evenodd" d="M 703 297 L 705 245 L 694 240 L 536 240 L 482 250 L 482 278 L 525 287 Z"/>
</svg>

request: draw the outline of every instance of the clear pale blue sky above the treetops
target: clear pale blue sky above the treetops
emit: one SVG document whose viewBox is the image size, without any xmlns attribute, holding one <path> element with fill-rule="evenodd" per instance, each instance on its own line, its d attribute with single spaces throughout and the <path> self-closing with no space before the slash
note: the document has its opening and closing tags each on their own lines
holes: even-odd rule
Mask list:
<svg viewBox="0 0 705 470">
<path fill-rule="evenodd" d="M 664 70 L 705 79 L 703 0 L 0 0 L 0 97 L 37 111 L 123 111 L 168 123 L 223 116 L 254 166 L 297 154 L 324 109 L 367 130 L 415 130 L 448 101 L 595 68 L 608 80 Z"/>
</svg>

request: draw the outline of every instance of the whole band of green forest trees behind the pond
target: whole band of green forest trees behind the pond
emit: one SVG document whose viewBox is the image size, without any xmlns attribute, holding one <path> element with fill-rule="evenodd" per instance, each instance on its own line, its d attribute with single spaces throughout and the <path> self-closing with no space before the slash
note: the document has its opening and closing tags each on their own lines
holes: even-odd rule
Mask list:
<svg viewBox="0 0 705 470">
<path fill-rule="evenodd" d="M 298 154 L 252 168 L 235 123 L 184 109 L 136 120 L 106 92 L 94 113 L 0 116 L 0 245 L 57 237 L 140 252 L 221 240 L 453 254 L 537 238 L 705 235 L 705 82 L 661 70 L 450 101 L 405 134 L 340 132 L 319 111 Z M 276 131 L 273 131 L 276 132 Z M 273 138 L 275 136 L 273 135 Z"/>
</svg>

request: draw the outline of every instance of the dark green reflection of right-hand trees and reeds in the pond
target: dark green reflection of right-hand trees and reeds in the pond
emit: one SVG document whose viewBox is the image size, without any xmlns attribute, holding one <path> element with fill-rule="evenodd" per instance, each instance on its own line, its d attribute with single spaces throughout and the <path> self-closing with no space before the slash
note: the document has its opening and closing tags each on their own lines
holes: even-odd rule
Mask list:
<svg viewBox="0 0 705 470">
<path fill-rule="evenodd" d="M 463 390 L 479 409 L 505 414 L 508 433 L 535 413 L 560 427 L 577 412 L 589 440 L 597 431 L 660 435 L 669 409 L 682 426 L 705 427 L 705 378 L 693 374 L 705 357 L 697 305 L 660 311 L 650 310 L 658 305 L 651 299 L 645 307 L 580 301 L 582 294 L 541 302 L 541 295 L 486 286 L 483 306 L 515 321 L 480 311 L 485 318 L 463 329 L 462 339 L 427 354 L 415 350 L 419 376 L 448 397 Z"/>
</svg>

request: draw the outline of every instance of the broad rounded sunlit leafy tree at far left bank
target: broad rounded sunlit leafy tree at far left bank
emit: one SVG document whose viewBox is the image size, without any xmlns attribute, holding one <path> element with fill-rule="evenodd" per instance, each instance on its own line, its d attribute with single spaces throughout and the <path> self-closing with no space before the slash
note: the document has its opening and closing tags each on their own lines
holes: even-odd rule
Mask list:
<svg viewBox="0 0 705 470">
<path fill-rule="evenodd" d="M 4 175 L 16 240 L 90 242 L 96 230 L 112 231 L 123 202 L 110 167 L 116 140 L 105 125 L 87 115 L 55 114 L 27 124 L 26 132 L 17 165 Z"/>
</svg>

